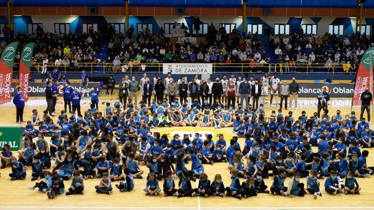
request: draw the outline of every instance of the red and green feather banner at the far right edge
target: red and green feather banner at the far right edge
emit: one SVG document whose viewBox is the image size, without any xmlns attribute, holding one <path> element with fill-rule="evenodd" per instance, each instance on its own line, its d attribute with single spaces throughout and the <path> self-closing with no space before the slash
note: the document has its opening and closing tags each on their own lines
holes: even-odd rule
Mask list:
<svg viewBox="0 0 374 210">
<path fill-rule="evenodd" d="M 361 105 L 361 94 L 365 91 L 366 87 L 369 87 L 369 91 L 373 93 L 373 56 L 374 47 L 369 47 L 362 55 L 356 74 L 352 106 Z M 370 104 L 373 104 L 373 100 Z"/>
</svg>

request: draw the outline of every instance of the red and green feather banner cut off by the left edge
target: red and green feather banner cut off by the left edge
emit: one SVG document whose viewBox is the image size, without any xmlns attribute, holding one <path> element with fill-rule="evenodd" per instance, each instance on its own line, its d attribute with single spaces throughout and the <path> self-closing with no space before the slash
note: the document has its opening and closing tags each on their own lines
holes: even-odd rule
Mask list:
<svg viewBox="0 0 374 210">
<path fill-rule="evenodd" d="M 18 41 L 13 41 L 4 47 L 0 59 L 0 104 L 11 101 L 12 75 L 14 56 L 17 52 Z"/>
</svg>

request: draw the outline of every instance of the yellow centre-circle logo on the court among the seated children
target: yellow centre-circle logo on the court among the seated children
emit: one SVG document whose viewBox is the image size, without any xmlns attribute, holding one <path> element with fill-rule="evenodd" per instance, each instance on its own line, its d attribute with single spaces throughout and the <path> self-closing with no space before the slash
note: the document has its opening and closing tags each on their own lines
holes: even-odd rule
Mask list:
<svg viewBox="0 0 374 210">
<path fill-rule="evenodd" d="M 224 139 L 226 141 L 230 141 L 234 136 L 233 133 L 228 132 L 226 130 L 221 129 L 213 129 L 213 128 L 206 128 L 206 127 L 178 127 L 178 128 L 168 128 L 163 130 L 158 130 L 157 132 L 160 133 L 160 136 L 166 134 L 168 136 L 169 141 L 173 139 L 175 134 L 178 134 L 180 137 L 179 139 L 183 139 L 183 136 L 186 134 L 190 138 L 190 140 L 194 139 L 195 133 L 199 133 L 200 138 L 202 140 L 206 139 L 206 135 L 211 134 L 213 136 L 213 141 L 215 142 L 218 140 L 218 136 L 223 134 Z"/>
</svg>

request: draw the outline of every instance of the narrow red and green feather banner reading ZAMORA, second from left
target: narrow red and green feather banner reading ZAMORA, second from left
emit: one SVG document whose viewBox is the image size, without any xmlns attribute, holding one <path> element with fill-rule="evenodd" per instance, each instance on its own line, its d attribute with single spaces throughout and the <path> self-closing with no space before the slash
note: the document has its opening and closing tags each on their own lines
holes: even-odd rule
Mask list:
<svg viewBox="0 0 374 210">
<path fill-rule="evenodd" d="M 25 44 L 19 61 L 18 87 L 22 88 L 25 102 L 28 101 L 28 82 L 30 78 L 31 58 L 33 57 L 34 42 Z"/>
</svg>

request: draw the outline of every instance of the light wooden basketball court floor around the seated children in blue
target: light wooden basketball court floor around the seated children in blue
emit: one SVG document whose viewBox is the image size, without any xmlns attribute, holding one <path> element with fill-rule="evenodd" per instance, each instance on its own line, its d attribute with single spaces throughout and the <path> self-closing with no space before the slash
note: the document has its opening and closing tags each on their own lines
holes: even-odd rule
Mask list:
<svg viewBox="0 0 374 210">
<path fill-rule="evenodd" d="M 115 101 L 116 93 L 113 96 L 105 95 L 99 97 L 99 111 L 104 111 L 102 102 Z M 140 94 L 139 94 L 140 95 Z M 59 103 L 56 105 L 56 113 L 59 113 L 64 108 L 63 102 L 60 97 Z M 269 100 L 269 99 L 268 99 Z M 90 99 L 82 99 L 82 111 L 89 108 Z M 301 111 L 305 110 L 307 115 L 310 116 L 317 110 L 317 101 L 313 98 L 299 98 L 298 111 L 292 109 L 293 116 L 296 118 L 301 115 Z M 336 113 L 337 109 L 341 110 L 341 114 L 349 114 L 351 111 L 351 101 L 349 98 L 331 99 L 329 102 L 329 114 Z M 37 109 L 40 114 L 46 108 L 46 101 L 44 97 L 32 97 L 25 106 L 24 119 L 31 118 L 31 110 Z M 356 115 L 359 115 L 359 107 L 353 109 Z M 266 105 L 266 114 L 269 115 L 269 105 Z M 283 114 L 288 114 L 283 111 Z M 366 117 L 366 115 L 365 115 Z M 374 122 L 374 121 L 373 121 Z M 15 123 L 15 108 L 11 103 L 0 105 L 0 126 L 19 126 Z M 22 123 L 25 126 L 25 123 Z M 184 129 L 191 129 L 190 127 Z M 162 131 L 164 130 L 164 131 Z M 183 129 L 182 129 L 183 130 Z M 151 129 L 152 132 L 158 131 L 162 133 L 178 132 L 178 129 L 165 130 L 164 128 Z M 230 140 L 232 128 L 221 129 L 200 129 L 198 126 L 191 130 L 191 132 L 212 132 L 215 134 L 223 133 L 226 140 Z M 47 137 L 49 140 L 49 137 Z M 169 138 L 171 139 L 171 138 Z M 214 142 L 217 138 L 213 139 Z M 244 139 L 239 138 L 241 148 L 243 147 Z M 369 166 L 374 166 L 374 149 L 370 151 L 367 163 Z M 317 151 L 313 147 L 313 151 Z M 362 149 L 361 149 L 362 151 Z M 214 165 L 204 165 L 205 173 L 210 180 L 214 180 L 214 175 L 220 173 L 223 177 L 225 186 L 231 183 L 227 163 L 214 163 Z M 190 169 L 191 162 L 186 165 Z M 149 169 L 145 166 L 140 166 L 141 170 L 145 173 Z M 51 170 L 51 169 L 49 169 Z M 57 195 L 54 200 L 49 200 L 45 193 L 37 190 L 32 191 L 27 186 L 34 185 L 35 181 L 31 182 L 31 167 L 27 169 L 27 177 L 24 180 L 10 181 L 8 174 L 11 172 L 10 167 L 0 170 L 0 209 L 332 209 L 338 207 L 340 209 L 374 209 L 373 194 L 374 194 L 374 177 L 371 178 L 358 178 L 358 183 L 362 187 L 360 195 L 328 195 L 322 187 L 322 197 L 313 198 L 313 195 L 307 194 L 304 197 L 285 198 L 280 195 L 272 194 L 258 194 L 256 197 L 250 197 L 238 200 L 233 197 L 157 197 L 145 196 L 143 188 L 145 187 L 146 179 L 135 179 L 135 189 L 131 192 L 119 192 L 115 188 L 113 182 L 113 191 L 110 195 L 97 194 L 94 186 L 98 185 L 99 179 L 85 180 L 85 194 L 84 195 Z M 285 180 L 285 185 L 288 185 L 289 177 Z M 178 185 L 178 178 L 174 177 L 175 184 Z M 243 182 L 244 179 L 240 179 Z M 265 179 L 265 183 L 270 189 L 272 184 L 272 177 Z M 305 183 L 305 178 L 301 181 Z M 324 185 L 325 180 L 319 180 L 321 186 Z M 65 181 L 65 192 L 70 186 L 71 179 Z M 197 187 L 197 182 L 191 182 L 193 187 Z M 162 188 L 163 180 L 159 182 Z M 196 185 L 196 186 L 195 186 Z"/>
</svg>

